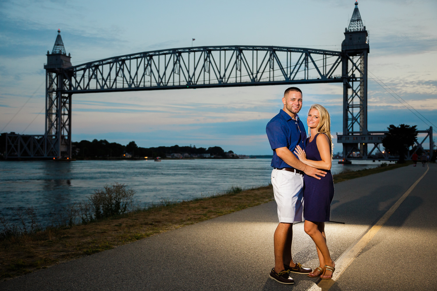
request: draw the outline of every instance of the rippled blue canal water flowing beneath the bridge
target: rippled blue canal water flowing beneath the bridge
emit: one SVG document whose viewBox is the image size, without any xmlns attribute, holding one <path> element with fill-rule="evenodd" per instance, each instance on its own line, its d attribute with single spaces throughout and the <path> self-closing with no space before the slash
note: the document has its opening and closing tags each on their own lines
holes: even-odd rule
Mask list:
<svg viewBox="0 0 437 291">
<path fill-rule="evenodd" d="M 39 223 L 51 223 L 51 213 L 87 199 L 105 184 L 122 183 L 135 190 L 142 205 L 162 199 L 180 201 L 270 182 L 270 158 L 238 160 L 154 161 L 0 161 L 0 216 L 9 220 L 17 207 L 33 206 Z M 333 162 L 333 174 L 377 167 L 381 162 Z M 1 226 L 0 226 L 1 228 Z"/>
</svg>

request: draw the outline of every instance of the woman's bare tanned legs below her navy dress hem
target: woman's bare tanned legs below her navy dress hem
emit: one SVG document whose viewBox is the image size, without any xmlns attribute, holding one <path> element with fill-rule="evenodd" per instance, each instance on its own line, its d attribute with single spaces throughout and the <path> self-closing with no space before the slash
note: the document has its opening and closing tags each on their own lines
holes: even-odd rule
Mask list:
<svg viewBox="0 0 437 291">
<path fill-rule="evenodd" d="M 329 255 L 328 246 L 326 245 L 325 223 L 305 220 L 304 230 L 305 233 L 311 237 L 314 243 L 316 243 L 320 267 L 323 268 L 325 265 L 335 267 L 335 264 Z M 331 271 L 326 270 L 321 277 L 330 277 L 331 274 Z"/>
</svg>

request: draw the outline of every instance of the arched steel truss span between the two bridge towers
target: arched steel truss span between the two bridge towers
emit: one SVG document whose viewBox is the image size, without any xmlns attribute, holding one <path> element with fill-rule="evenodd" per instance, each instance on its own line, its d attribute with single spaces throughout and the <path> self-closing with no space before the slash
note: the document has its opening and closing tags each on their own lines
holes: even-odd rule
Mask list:
<svg viewBox="0 0 437 291">
<path fill-rule="evenodd" d="M 67 94 L 342 82 L 340 53 L 274 46 L 174 48 L 88 62 L 58 74 Z"/>
</svg>

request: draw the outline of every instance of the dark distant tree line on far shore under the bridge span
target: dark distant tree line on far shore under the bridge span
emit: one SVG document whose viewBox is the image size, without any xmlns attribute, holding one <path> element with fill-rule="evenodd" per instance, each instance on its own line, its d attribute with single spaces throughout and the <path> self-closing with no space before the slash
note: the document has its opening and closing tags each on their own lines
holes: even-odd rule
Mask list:
<svg viewBox="0 0 437 291">
<path fill-rule="evenodd" d="M 127 145 L 118 143 L 110 143 L 108 140 L 93 141 L 81 140 L 73 142 L 73 157 L 122 157 L 123 154 L 131 154 L 132 157 L 166 157 L 166 154 L 187 153 L 187 154 L 211 154 L 214 156 L 225 157 L 225 151 L 221 147 L 196 147 L 174 145 L 171 147 L 139 147 L 135 141 L 131 141 Z M 229 151 L 233 153 L 232 151 Z"/>
</svg>

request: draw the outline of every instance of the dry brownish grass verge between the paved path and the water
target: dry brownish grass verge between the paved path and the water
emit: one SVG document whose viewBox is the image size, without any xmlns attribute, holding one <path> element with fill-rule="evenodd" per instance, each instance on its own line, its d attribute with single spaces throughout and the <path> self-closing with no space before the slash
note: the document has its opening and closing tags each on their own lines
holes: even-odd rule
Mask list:
<svg viewBox="0 0 437 291">
<path fill-rule="evenodd" d="M 406 166 L 351 171 L 334 175 L 334 182 Z M 48 228 L 0 241 L 0 277 L 27 274 L 67 260 L 109 250 L 135 240 L 166 232 L 273 200 L 272 186 L 228 191 L 222 195 L 162 203 L 145 211 L 101 219 L 68 228 Z"/>
</svg>

